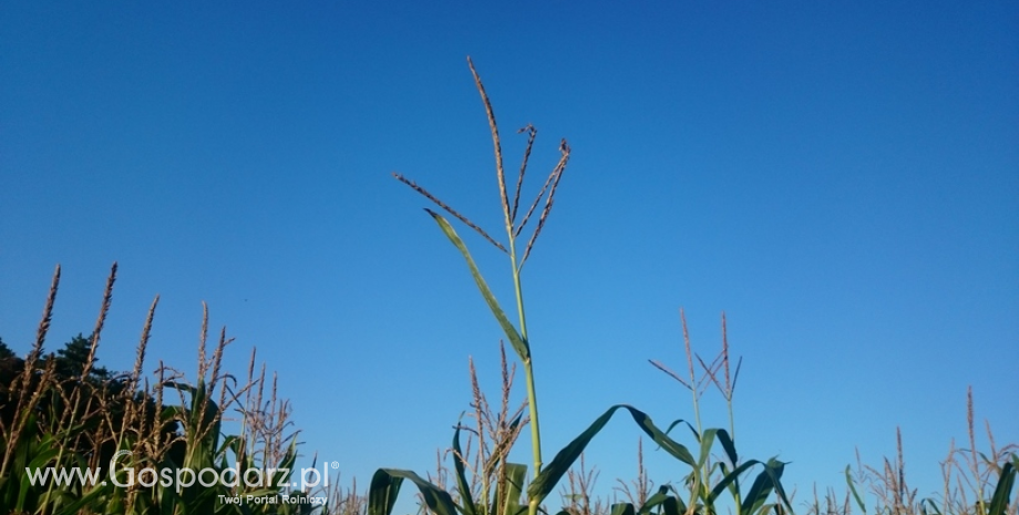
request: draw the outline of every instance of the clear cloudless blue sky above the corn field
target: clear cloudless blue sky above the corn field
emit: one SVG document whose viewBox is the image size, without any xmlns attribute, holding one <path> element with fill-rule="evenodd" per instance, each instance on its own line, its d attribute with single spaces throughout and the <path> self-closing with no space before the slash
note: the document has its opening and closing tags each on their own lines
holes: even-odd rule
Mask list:
<svg viewBox="0 0 1019 515">
<path fill-rule="evenodd" d="M 130 369 L 158 293 L 150 369 L 193 373 L 204 300 L 229 368 L 257 348 L 303 452 L 361 484 L 433 468 L 469 356 L 497 382 L 497 325 L 390 176 L 502 234 L 467 55 L 510 169 L 538 128 L 528 192 L 573 147 L 524 275 L 549 456 L 614 403 L 692 416 L 647 361 L 685 367 L 680 307 L 706 356 L 727 312 L 738 447 L 801 501 L 896 426 L 939 488 L 968 385 L 1019 441 L 1012 2 L 6 2 L 0 49 L 0 337 L 28 350 L 56 264 L 48 348 L 89 332 L 116 260 L 102 364 Z M 605 488 L 637 437 L 596 440 Z"/>
</svg>

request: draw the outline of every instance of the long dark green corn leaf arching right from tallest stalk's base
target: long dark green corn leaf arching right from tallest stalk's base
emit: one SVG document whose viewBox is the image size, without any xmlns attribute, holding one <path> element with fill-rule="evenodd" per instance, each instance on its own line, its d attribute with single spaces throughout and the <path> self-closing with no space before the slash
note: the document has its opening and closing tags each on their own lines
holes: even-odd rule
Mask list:
<svg viewBox="0 0 1019 515">
<path fill-rule="evenodd" d="M 587 447 L 587 444 L 605 428 L 605 424 L 608 423 L 609 419 L 613 418 L 613 414 L 616 413 L 618 409 L 626 409 L 630 412 L 630 415 L 634 418 L 634 421 L 637 422 L 637 425 L 647 433 L 651 440 L 655 441 L 658 445 L 661 446 L 666 452 L 680 460 L 681 462 L 693 466 L 696 462 L 693 461 L 693 455 L 690 454 L 690 451 L 687 450 L 682 444 L 670 439 L 666 433 L 663 433 L 658 426 L 651 422 L 651 418 L 647 413 L 626 405 L 626 404 L 616 404 L 608 409 L 601 416 L 595 420 L 590 426 L 587 428 L 579 436 L 574 439 L 568 445 L 563 447 L 562 451 L 556 454 L 552 462 L 542 470 L 542 472 L 535 476 L 534 481 L 531 482 L 531 486 L 527 488 L 527 496 L 531 499 L 537 499 L 538 503 L 545 499 L 548 494 L 555 490 L 556 485 L 559 483 L 559 480 L 566 474 L 569 467 L 573 466 L 574 462 L 580 457 L 580 453 L 584 452 L 584 449 Z"/>
</svg>

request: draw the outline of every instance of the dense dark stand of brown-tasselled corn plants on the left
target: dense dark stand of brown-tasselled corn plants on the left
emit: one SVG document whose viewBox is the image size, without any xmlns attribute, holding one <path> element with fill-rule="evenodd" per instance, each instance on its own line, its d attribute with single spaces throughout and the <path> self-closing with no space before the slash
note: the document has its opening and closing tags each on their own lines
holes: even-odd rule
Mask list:
<svg viewBox="0 0 1019 515">
<path fill-rule="evenodd" d="M 254 351 L 247 382 L 240 384 L 220 370 L 224 350 L 231 341 L 226 338 L 225 329 L 210 356 L 206 356 L 207 309 L 203 315 L 196 381 L 186 381 L 162 362 L 153 385 L 142 374 L 158 296 L 143 325 L 134 369 L 117 375 L 96 373 L 96 350 L 115 278 L 116 264 L 107 278 L 100 315 L 80 369 L 58 371 L 58 359 L 53 354 L 43 356 L 60 282 L 59 266 L 31 351 L 24 360 L 7 357 L 0 362 L 9 370 L 4 377 L 11 375 L 0 384 L 0 513 L 311 513 L 309 504 L 225 504 L 220 497 L 279 498 L 307 494 L 277 486 L 280 481 L 276 480 L 287 484 L 290 480 L 279 474 L 274 484 L 258 486 L 239 481 L 236 485 L 194 483 L 181 488 L 162 482 L 150 486 L 142 483 L 143 468 L 168 472 L 172 477 L 178 477 L 176 473 L 182 468 L 209 468 L 217 475 L 233 468 L 238 476 L 251 468 L 292 470 L 297 459 L 296 432 L 289 429 L 288 404 L 276 398 L 275 380 L 271 391 L 264 395 L 265 367 L 256 377 Z M 178 401 L 164 402 L 174 392 Z M 239 414 L 240 431 L 235 435 L 226 434 L 223 425 L 231 410 Z M 112 456 L 126 457 L 113 464 Z M 110 471 L 110 466 L 116 470 Z M 39 484 L 32 480 L 39 477 L 34 472 L 42 470 L 74 468 L 112 481 Z M 134 472 L 137 472 L 135 481 L 130 481 Z M 328 508 L 327 505 L 322 509 L 328 513 Z"/>
</svg>

